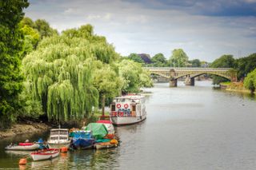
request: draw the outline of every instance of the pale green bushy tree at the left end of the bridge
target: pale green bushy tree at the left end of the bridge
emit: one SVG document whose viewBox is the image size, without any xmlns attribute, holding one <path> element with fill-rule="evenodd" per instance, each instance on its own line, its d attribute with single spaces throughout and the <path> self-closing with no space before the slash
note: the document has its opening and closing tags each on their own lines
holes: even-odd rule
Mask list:
<svg viewBox="0 0 256 170">
<path fill-rule="evenodd" d="M 122 93 L 137 93 L 142 87 L 152 87 L 150 73 L 142 69 L 142 65 L 130 60 L 122 60 L 119 64 L 122 77 Z"/>
</svg>

